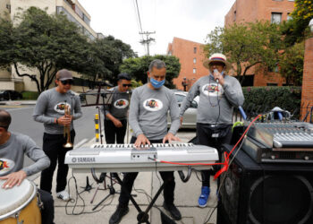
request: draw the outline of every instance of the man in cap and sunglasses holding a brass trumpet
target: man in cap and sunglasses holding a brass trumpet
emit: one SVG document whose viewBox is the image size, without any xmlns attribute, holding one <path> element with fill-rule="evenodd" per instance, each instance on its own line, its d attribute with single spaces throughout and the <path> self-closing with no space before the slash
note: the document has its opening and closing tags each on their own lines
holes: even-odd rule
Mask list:
<svg viewBox="0 0 313 224">
<path fill-rule="evenodd" d="M 63 201 L 70 200 L 65 190 L 68 165 L 64 164 L 67 151 L 72 150 L 75 131 L 73 120 L 82 116 L 80 98 L 72 90 L 72 73 L 66 69 L 55 75 L 55 88 L 43 91 L 34 109 L 35 121 L 44 123 L 43 151 L 51 164 L 41 172 L 40 189 L 51 194 L 52 179 L 58 163 L 56 196 Z"/>
</svg>

